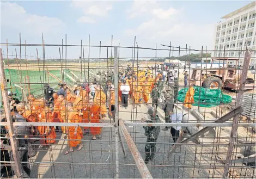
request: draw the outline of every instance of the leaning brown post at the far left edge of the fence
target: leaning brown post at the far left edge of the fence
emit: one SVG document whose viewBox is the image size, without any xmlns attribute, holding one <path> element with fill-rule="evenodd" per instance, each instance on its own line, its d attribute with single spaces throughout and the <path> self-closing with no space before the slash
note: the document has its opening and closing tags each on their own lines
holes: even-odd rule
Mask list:
<svg viewBox="0 0 256 179">
<path fill-rule="evenodd" d="M 7 124 L 8 124 L 8 130 L 9 130 L 9 135 L 10 135 L 10 141 L 11 141 L 11 149 L 13 150 L 13 158 L 15 162 L 15 168 L 16 168 L 16 175 L 18 178 L 22 175 L 21 169 L 21 163 L 20 163 L 20 157 L 18 153 L 18 147 L 17 147 L 17 140 L 15 138 L 14 134 L 14 127 L 13 127 L 13 120 L 11 120 L 11 114 L 10 114 L 10 106 L 9 106 L 9 99 L 8 99 L 8 89 L 7 89 L 7 84 L 6 84 L 6 79 L 5 79 L 5 73 L 4 73 L 4 63 L 3 63 L 3 54 L 2 54 L 2 48 L 0 49 L 1 51 L 1 60 L 0 60 L 0 76 L 1 76 L 1 93 L 2 93 L 2 98 L 3 98 L 3 104 L 4 104 L 4 112 L 5 112 L 5 117 L 7 119 Z"/>
</svg>

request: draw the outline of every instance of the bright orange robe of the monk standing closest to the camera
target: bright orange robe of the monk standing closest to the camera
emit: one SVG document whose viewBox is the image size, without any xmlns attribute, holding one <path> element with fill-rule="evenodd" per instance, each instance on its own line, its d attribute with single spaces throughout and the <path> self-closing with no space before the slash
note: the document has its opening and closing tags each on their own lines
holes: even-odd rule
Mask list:
<svg viewBox="0 0 256 179">
<path fill-rule="evenodd" d="M 78 115 L 77 112 L 75 111 L 72 111 L 72 112 L 69 112 L 69 117 L 68 117 L 69 121 L 68 122 L 75 122 L 78 124 L 79 120 L 80 120 L 80 116 Z M 68 139 L 69 140 L 69 146 L 70 147 L 76 147 L 78 144 L 81 143 L 81 139 L 83 138 L 83 131 L 81 129 L 80 126 L 77 127 L 77 133 L 76 135 L 74 134 L 75 133 L 75 129 L 76 129 L 76 126 L 70 126 L 68 127 Z"/>
</svg>

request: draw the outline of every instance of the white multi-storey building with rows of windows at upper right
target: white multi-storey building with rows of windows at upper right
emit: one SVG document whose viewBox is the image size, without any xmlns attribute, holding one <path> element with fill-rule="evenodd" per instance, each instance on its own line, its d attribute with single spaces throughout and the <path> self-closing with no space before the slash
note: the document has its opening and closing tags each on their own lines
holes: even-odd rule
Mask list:
<svg viewBox="0 0 256 179">
<path fill-rule="evenodd" d="M 255 2 L 252 2 L 221 17 L 222 20 L 216 24 L 214 40 L 216 51 L 212 53 L 212 57 L 241 57 L 239 65 L 242 65 L 245 51 L 240 54 L 239 50 L 252 48 L 254 52 L 251 67 L 255 67 L 255 15 Z M 227 51 L 225 54 L 224 48 Z"/>
</svg>

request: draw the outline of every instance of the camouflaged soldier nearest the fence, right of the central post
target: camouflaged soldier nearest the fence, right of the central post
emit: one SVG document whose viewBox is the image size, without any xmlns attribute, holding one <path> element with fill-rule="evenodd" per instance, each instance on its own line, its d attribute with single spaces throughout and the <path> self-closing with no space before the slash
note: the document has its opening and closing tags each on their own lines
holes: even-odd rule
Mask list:
<svg viewBox="0 0 256 179">
<path fill-rule="evenodd" d="M 148 109 L 150 120 L 142 119 L 142 122 L 160 122 L 159 116 L 155 114 L 153 108 Z M 149 159 L 153 161 L 156 152 L 156 140 L 159 137 L 160 126 L 143 126 L 145 135 L 147 136 L 147 144 L 145 145 L 145 164 L 148 164 Z M 151 149 L 151 153 L 150 153 Z M 151 155 L 150 155 L 151 154 Z"/>
</svg>

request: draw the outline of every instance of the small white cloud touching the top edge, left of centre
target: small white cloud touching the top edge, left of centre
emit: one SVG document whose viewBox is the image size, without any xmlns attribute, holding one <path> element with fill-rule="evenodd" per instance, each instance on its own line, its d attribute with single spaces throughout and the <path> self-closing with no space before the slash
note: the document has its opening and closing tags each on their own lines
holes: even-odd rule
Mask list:
<svg viewBox="0 0 256 179">
<path fill-rule="evenodd" d="M 70 7 L 82 9 L 83 14 L 106 17 L 111 11 L 109 1 L 72 1 Z"/>
</svg>

